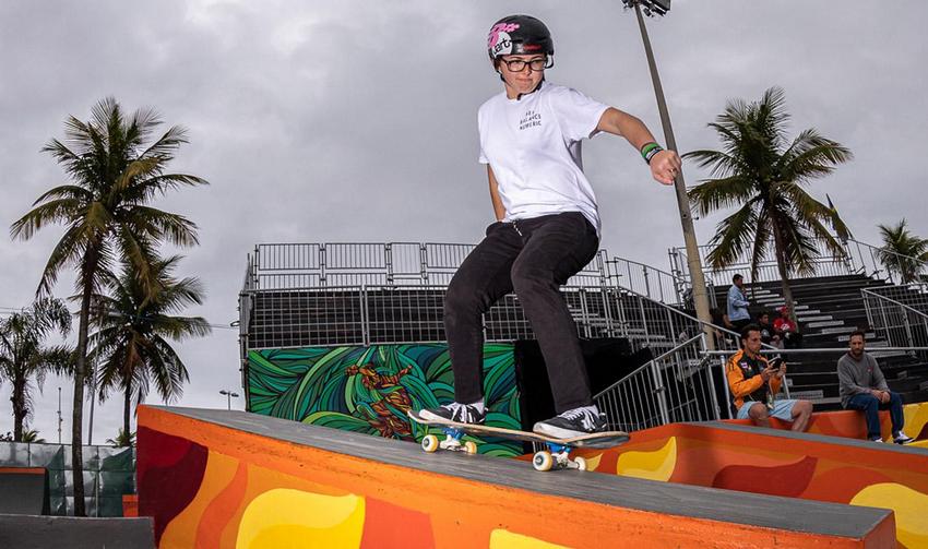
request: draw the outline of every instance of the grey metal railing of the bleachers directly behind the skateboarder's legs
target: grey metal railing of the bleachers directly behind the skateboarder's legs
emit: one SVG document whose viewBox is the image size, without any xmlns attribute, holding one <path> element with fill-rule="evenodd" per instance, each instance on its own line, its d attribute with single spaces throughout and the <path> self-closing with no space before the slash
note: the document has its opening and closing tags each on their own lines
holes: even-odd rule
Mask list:
<svg viewBox="0 0 928 549">
<path fill-rule="evenodd" d="M 260 244 L 249 256 L 239 296 L 242 357 L 257 348 L 444 341 L 444 289 L 471 249 Z M 607 258 L 597 253 L 562 288 L 581 337 L 626 337 L 633 348 L 659 354 L 701 333 L 697 319 L 671 307 L 682 299 L 682 281 Z M 534 337 L 515 295 L 484 315 L 484 330 L 488 342 Z"/>
</svg>

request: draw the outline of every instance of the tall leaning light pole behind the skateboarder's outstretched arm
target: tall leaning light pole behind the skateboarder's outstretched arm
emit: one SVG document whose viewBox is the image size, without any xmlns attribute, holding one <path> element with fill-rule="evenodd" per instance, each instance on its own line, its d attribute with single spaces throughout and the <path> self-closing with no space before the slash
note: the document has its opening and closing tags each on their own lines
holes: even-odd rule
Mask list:
<svg viewBox="0 0 928 549">
<path fill-rule="evenodd" d="M 657 97 L 657 110 L 661 114 L 661 124 L 664 127 L 664 139 L 667 148 L 677 151 L 677 140 L 674 138 L 674 129 L 670 127 L 670 114 L 667 110 L 667 102 L 664 98 L 664 87 L 661 85 L 661 76 L 657 74 L 657 62 L 654 60 L 654 51 L 651 49 L 651 40 L 647 38 L 647 29 L 644 26 L 642 8 L 647 15 L 664 15 L 670 11 L 670 0 L 622 0 L 622 2 L 634 9 L 638 17 L 638 27 L 641 31 L 641 40 L 644 43 L 644 53 L 647 57 L 647 68 L 651 71 L 651 82 L 654 84 L 654 95 Z M 709 293 L 705 289 L 705 275 L 702 272 L 702 261 L 699 256 L 699 243 L 693 228 L 693 216 L 690 211 L 690 201 L 687 198 L 687 183 L 683 181 L 683 171 L 674 179 L 674 189 L 677 191 L 677 208 L 680 211 L 680 225 L 683 228 L 683 243 L 687 247 L 687 263 L 690 271 L 690 284 L 693 288 L 693 305 L 697 309 L 697 318 L 702 321 L 706 333 L 706 345 L 710 350 L 714 349 L 714 339 L 710 337 L 710 330 L 705 324 L 712 323 L 709 312 Z"/>
</svg>

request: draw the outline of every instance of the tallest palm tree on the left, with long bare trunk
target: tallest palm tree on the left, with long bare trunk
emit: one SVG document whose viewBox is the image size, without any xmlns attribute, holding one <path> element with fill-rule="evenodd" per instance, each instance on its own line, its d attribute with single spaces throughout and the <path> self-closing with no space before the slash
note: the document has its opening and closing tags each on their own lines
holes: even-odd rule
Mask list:
<svg viewBox="0 0 928 549">
<path fill-rule="evenodd" d="M 70 182 L 41 194 L 33 210 L 10 229 L 14 238 L 28 240 L 46 225 L 66 226 L 48 258 L 37 295 L 50 293 L 62 270 L 78 271 L 81 309 L 71 433 L 78 516 L 85 514 L 81 444 L 91 297 L 100 286 L 102 273 L 119 260 L 132 265 L 134 275 L 154 290 L 150 265 L 157 243 L 198 243 L 195 224 L 148 205 L 169 190 L 206 183 L 195 176 L 165 172 L 187 138 L 182 128 L 171 127 L 150 143 L 160 123 L 160 117 L 151 109 L 136 110 L 127 118 L 111 97 L 94 107 L 87 122 L 70 117 L 64 122 L 64 142 L 52 139 L 43 148 L 64 168 Z"/>
</svg>

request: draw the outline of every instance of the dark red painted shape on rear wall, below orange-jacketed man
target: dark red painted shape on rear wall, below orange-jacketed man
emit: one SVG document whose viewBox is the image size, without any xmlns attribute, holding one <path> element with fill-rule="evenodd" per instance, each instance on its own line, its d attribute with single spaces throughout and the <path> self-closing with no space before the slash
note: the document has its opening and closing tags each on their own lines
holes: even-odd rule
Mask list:
<svg viewBox="0 0 928 549">
<path fill-rule="evenodd" d="M 729 465 L 715 475 L 712 487 L 796 498 L 809 486 L 817 463 L 816 457 L 806 456 L 797 463 L 775 467 Z"/>
</svg>

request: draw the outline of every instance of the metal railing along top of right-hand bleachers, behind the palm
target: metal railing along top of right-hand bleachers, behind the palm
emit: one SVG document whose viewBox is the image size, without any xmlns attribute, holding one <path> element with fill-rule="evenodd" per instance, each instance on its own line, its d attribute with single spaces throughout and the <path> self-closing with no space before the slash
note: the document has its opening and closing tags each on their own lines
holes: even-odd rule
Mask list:
<svg viewBox="0 0 928 549">
<path fill-rule="evenodd" d="M 813 240 L 813 247 L 817 254 L 817 258 L 812 260 L 814 272 L 805 275 L 790 273 L 792 278 L 857 274 L 901 284 L 903 283 L 901 273 L 906 273 L 906 276 L 909 278 L 917 278 L 928 273 L 928 263 L 925 261 L 900 255 L 891 250 L 878 248 L 854 239 L 847 239 L 841 242 L 842 253 L 840 254 L 830 250 L 822 239 Z M 772 282 L 781 278 L 772 248 L 758 262 L 758 273 L 754 278 L 751 277 L 750 250 L 742 253 L 730 265 L 724 268 L 712 270 L 709 267 L 709 262 L 706 261 L 706 255 L 709 255 L 713 247 L 711 246 L 699 247 L 700 259 L 706 267 L 706 281 L 712 284 L 730 284 L 731 276 L 735 273 L 743 275 L 747 283 Z M 689 283 L 690 276 L 686 249 L 671 248 L 668 253 L 673 275 Z"/>
</svg>

